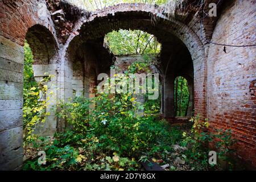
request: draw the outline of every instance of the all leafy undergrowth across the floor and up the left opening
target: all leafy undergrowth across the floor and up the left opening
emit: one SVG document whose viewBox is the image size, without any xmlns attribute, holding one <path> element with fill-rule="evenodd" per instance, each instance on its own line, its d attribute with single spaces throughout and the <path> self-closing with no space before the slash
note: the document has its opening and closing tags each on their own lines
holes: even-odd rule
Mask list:
<svg viewBox="0 0 256 182">
<path fill-rule="evenodd" d="M 24 170 L 141 170 L 141 163 L 151 159 L 169 164 L 168 170 L 233 168 L 231 131 L 210 132 L 207 119 L 203 121 L 200 115 L 191 119 L 192 126 L 187 129 L 171 126 L 159 117 L 160 100 L 146 99 L 142 105 L 129 93 L 97 93 L 92 99 L 76 97 L 60 103 L 56 115 L 69 127 L 53 138 L 34 135 L 34 127 L 47 115 L 47 101 L 40 96 L 49 90 L 32 78 L 27 44 L 25 53 L 24 79 L 32 82 L 24 86 L 24 145 L 35 155 L 24 164 Z M 150 72 L 148 61 L 131 64 L 126 76 L 137 72 Z M 144 110 L 143 117 L 138 109 Z M 217 166 L 208 163 L 210 143 L 218 154 Z M 38 163 L 38 151 L 46 151 L 45 165 Z"/>
</svg>

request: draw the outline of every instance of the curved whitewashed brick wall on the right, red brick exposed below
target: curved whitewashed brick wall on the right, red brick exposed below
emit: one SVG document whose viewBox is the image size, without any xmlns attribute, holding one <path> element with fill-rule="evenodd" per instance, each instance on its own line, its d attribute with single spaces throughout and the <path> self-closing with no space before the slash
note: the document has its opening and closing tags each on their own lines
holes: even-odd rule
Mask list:
<svg viewBox="0 0 256 182">
<path fill-rule="evenodd" d="M 255 1 L 237 0 L 226 7 L 212 42 L 255 44 Z M 256 167 L 255 47 L 210 44 L 208 55 L 208 117 L 212 129 L 232 129 L 237 154 Z M 250 89 L 251 85 L 251 89 Z M 255 90 L 253 91 L 255 92 Z"/>
</svg>

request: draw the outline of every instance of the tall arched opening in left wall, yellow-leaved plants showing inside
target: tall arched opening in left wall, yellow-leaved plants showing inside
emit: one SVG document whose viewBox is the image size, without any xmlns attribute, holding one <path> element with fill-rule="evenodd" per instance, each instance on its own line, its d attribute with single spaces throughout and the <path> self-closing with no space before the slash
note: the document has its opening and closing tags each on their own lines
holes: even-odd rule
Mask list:
<svg viewBox="0 0 256 182">
<path fill-rule="evenodd" d="M 23 69 L 23 146 L 56 131 L 57 43 L 48 28 L 36 24 L 26 33 Z"/>
</svg>

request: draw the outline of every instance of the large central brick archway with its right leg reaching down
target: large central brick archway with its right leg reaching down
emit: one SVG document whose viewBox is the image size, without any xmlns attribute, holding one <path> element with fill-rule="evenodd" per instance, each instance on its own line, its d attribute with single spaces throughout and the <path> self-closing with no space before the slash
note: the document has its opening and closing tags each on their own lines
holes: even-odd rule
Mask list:
<svg viewBox="0 0 256 182">
<path fill-rule="evenodd" d="M 153 20 L 154 19 L 154 20 Z M 163 69 L 168 67 L 168 60 L 171 58 L 169 67 L 172 67 L 176 61 L 190 60 L 192 62 L 191 77 L 195 81 L 195 110 L 203 117 L 206 116 L 205 105 L 205 74 L 206 74 L 206 58 L 203 43 L 199 36 L 194 32 L 193 28 L 184 24 L 180 20 L 168 18 L 163 14 L 159 14 L 159 10 L 152 5 L 145 4 L 120 4 L 108 7 L 104 10 L 97 11 L 95 14 L 82 16 L 65 44 L 63 54 L 65 54 L 66 64 L 72 63 L 77 52 L 83 52 L 84 46 L 90 45 L 100 52 L 103 48 L 104 36 L 113 30 L 126 29 L 126 30 L 142 30 L 149 34 L 156 36 L 158 41 L 162 43 L 161 63 Z M 96 46 L 97 44 L 97 46 Z M 105 50 L 106 55 L 107 50 Z M 180 59 L 180 60 L 179 60 Z M 62 63 L 63 65 L 65 63 Z M 106 57 L 105 60 L 100 60 L 97 64 L 105 65 L 101 70 L 109 68 L 112 62 L 111 56 Z M 174 68 L 175 69 L 175 68 Z M 168 81 L 166 84 L 173 90 L 174 83 L 174 69 L 168 68 Z M 189 68 L 190 69 L 190 68 Z M 106 71 L 105 71 L 106 72 Z M 191 72 L 191 70 L 188 70 Z M 173 102 L 173 91 L 168 89 L 166 93 L 166 104 Z M 168 97 L 167 97 L 168 96 Z M 166 105 L 166 117 L 174 117 L 170 110 L 173 110 L 173 104 Z"/>
</svg>

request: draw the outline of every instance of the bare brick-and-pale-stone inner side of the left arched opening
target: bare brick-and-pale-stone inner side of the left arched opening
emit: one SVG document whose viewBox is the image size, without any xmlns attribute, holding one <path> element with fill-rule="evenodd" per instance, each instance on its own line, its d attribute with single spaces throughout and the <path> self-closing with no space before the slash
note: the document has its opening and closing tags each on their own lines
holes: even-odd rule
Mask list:
<svg viewBox="0 0 256 182">
<path fill-rule="evenodd" d="M 35 24 L 34 26 L 28 28 L 26 34 L 26 40 L 30 45 L 33 54 L 33 71 L 34 78 L 37 82 L 43 80 L 44 77 L 51 75 L 51 80 L 46 84 L 48 86 L 47 93 L 40 93 L 40 98 L 46 100 L 49 105 L 46 109 L 50 113 L 46 117 L 46 122 L 39 124 L 35 128 L 35 134 L 41 136 L 53 135 L 56 131 L 57 118 L 55 116 L 56 110 L 56 96 L 57 96 L 57 42 L 53 34 L 48 30 L 48 28 Z M 53 94 L 49 94 L 49 92 Z M 44 97 L 42 97 L 44 94 Z"/>
</svg>

